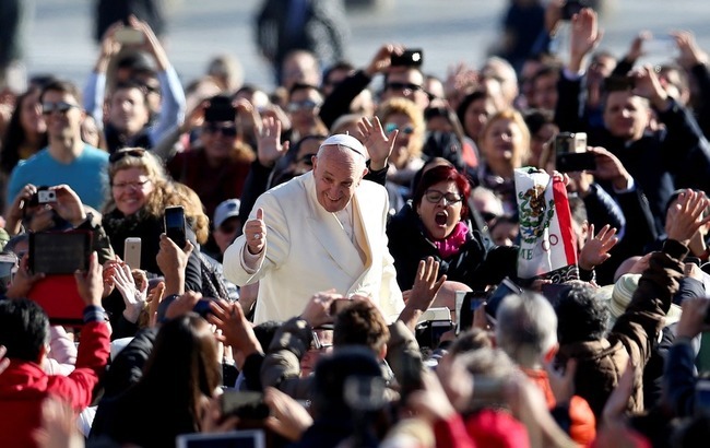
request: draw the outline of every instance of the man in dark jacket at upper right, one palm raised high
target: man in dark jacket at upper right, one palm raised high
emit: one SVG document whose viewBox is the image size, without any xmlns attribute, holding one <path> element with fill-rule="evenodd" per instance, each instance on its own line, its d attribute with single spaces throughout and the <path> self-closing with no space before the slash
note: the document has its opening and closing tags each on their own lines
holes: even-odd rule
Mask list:
<svg viewBox="0 0 710 448">
<path fill-rule="evenodd" d="M 594 11 L 585 8 L 572 16 L 570 57 L 558 83 L 555 121 L 560 131 L 587 132 L 591 146 L 604 148 L 618 157 L 630 174 L 627 184 L 600 184 L 613 196 L 636 189 L 646 194 L 661 235 L 665 205 L 676 188 L 710 188 L 710 144 L 693 115 L 668 94 L 650 66 L 622 80 L 612 76 L 605 81 L 604 128 L 590 128 L 579 115 L 579 94 L 584 60 L 601 38 Z M 662 128 L 649 128 L 652 113 Z"/>
</svg>

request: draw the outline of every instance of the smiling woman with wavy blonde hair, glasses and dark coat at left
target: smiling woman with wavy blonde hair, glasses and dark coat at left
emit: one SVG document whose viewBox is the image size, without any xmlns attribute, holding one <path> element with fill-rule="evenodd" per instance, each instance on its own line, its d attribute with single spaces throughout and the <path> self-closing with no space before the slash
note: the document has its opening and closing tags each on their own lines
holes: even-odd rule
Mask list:
<svg viewBox="0 0 710 448">
<path fill-rule="evenodd" d="M 140 237 L 140 268 L 147 272 L 149 279 L 162 276 L 155 257 L 159 251 L 161 234 L 165 232 L 164 210 L 169 205 L 182 205 L 184 199 L 165 174 L 161 161 L 140 148 L 125 148 L 111 154 L 108 177 L 111 193 L 104 209 L 103 225 L 116 255 L 123 259 L 126 238 Z M 185 288 L 201 292 L 199 246 L 190 225 L 186 225 L 186 235 L 194 249 L 185 271 Z M 122 300 L 119 308 L 120 305 Z"/>
</svg>

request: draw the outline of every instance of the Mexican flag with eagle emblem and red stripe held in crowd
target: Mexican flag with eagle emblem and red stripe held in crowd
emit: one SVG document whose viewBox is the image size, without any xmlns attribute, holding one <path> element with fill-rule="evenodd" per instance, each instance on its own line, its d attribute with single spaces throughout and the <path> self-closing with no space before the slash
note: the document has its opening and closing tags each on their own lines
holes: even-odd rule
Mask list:
<svg viewBox="0 0 710 448">
<path fill-rule="evenodd" d="M 567 188 L 561 178 L 536 168 L 514 173 L 520 216 L 518 276 L 554 283 L 579 279 Z"/>
</svg>

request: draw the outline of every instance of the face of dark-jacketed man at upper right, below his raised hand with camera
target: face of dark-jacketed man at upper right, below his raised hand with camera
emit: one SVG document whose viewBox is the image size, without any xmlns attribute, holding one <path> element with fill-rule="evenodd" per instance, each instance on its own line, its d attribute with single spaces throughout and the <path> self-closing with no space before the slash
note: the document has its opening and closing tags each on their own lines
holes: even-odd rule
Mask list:
<svg viewBox="0 0 710 448">
<path fill-rule="evenodd" d="M 604 123 L 614 137 L 638 140 L 649 123 L 646 101 L 628 91 L 610 92 L 604 107 Z"/>
</svg>

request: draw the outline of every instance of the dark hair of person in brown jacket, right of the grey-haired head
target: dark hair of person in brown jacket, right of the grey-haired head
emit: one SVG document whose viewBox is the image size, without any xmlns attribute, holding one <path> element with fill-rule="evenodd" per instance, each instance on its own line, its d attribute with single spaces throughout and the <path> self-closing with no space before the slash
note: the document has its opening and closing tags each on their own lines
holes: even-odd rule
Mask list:
<svg viewBox="0 0 710 448">
<path fill-rule="evenodd" d="M 555 313 L 560 344 L 596 341 L 606 333 L 608 309 L 594 296 L 592 286 L 570 284 L 559 293 Z"/>
</svg>

